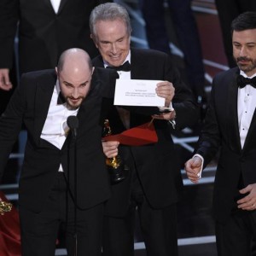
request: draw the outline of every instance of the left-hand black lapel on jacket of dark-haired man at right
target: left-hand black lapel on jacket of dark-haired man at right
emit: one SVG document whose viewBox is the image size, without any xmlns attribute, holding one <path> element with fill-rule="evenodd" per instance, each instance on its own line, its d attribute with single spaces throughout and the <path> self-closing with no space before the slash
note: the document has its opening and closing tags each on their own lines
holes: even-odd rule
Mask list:
<svg viewBox="0 0 256 256">
<path fill-rule="evenodd" d="M 241 151 L 241 142 L 238 126 L 238 115 L 237 115 L 237 85 L 236 77 L 238 73 L 233 73 L 233 77 L 230 78 L 229 93 L 228 93 L 228 112 L 227 112 L 227 125 L 230 139 L 230 147 L 233 150 Z"/>
</svg>

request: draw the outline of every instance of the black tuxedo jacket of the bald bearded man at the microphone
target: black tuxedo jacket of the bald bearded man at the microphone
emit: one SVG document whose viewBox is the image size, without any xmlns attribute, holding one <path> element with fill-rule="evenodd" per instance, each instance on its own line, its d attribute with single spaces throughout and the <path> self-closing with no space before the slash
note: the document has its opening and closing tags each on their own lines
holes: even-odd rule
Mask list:
<svg viewBox="0 0 256 256">
<path fill-rule="evenodd" d="M 117 74 L 98 68 L 93 74 L 90 94 L 79 108 L 77 131 L 78 206 L 93 207 L 110 195 L 108 172 L 102 152 L 100 113 L 102 96 L 110 96 Z M 26 73 L 0 118 L 0 176 L 9 159 L 12 145 L 22 122 L 27 130 L 27 143 L 20 174 L 19 202 L 39 212 L 55 182 L 60 164 L 70 188 L 74 184 L 74 142 L 71 134 L 61 150 L 41 139 L 49 103 L 55 87 L 55 71 Z"/>
</svg>

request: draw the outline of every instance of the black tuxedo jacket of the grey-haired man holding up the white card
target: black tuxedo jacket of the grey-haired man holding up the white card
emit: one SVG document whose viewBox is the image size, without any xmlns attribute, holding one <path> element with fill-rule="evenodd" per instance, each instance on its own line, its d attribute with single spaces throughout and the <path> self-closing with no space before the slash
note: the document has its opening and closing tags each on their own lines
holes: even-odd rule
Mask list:
<svg viewBox="0 0 256 256">
<path fill-rule="evenodd" d="M 103 67 L 102 57 L 96 57 L 93 63 L 96 67 Z M 190 90 L 182 83 L 168 55 L 150 49 L 131 49 L 131 79 L 171 81 L 175 87 L 172 103 L 177 113 L 177 129 L 197 121 L 198 111 Z M 144 112 L 137 112 L 141 110 Z M 135 111 L 131 108 L 131 127 L 150 121 L 152 113 L 153 108 L 145 107 Z M 116 108 L 109 113 L 108 119 L 113 133 L 125 130 Z M 121 145 L 119 154 L 131 169 L 137 170 L 149 204 L 160 208 L 177 202 L 183 183 L 171 137 L 172 125 L 165 120 L 154 120 L 154 127 L 158 143 L 140 147 Z M 130 177 L 112 186 L 112 196 L 106 207 L 107 214 L 125 215 L 131 195 L 131 172 L 129 173 Z"/>
</svg>

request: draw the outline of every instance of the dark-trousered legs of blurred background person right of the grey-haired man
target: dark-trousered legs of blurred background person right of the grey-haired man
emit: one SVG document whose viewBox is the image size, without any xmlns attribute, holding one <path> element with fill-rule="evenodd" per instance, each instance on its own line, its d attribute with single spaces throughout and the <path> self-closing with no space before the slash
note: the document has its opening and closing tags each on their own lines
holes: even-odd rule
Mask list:
<svg viewBox="0 0 256 256">
<path fill-rule="evenodd" d="M 143 19 L 146 22 L 149 48 L 158 49 L 170 55 L 170 38 L 166 28 L 164 3 L 164 0 L 139 0 Z M 191 0 L 166 0 L 166 4 L 175 30 L 174 33 L 177 36 L 178 46 L 183 52 L 187 82 L 197 102 L 206 103 L 201 42 L 195 16 L 191 9 Z"/>
</svg>

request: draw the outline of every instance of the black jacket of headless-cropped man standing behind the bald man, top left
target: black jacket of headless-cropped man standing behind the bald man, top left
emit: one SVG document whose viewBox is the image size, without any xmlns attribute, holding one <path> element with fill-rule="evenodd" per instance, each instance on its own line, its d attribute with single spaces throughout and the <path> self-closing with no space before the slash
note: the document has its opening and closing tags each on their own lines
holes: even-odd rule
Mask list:
<svg viewBox="0 0 256 256">
<path fill-rule="evenodd" d="M 50 0 L 1 0 L 0 68 L 13 67 L 18 22 L 20 73 L 54 68 L 61 52 L 73 47 L 96 56 L 89 16 L 102 2 L 107 1 L 61 0 L 55 14 Z"/>
</svg>

